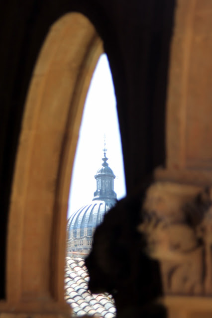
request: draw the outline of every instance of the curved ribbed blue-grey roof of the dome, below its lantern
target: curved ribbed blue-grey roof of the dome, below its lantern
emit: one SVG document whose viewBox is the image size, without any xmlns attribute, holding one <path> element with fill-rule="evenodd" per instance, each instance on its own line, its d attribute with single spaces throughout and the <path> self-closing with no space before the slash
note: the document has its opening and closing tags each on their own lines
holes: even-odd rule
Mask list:
<svg viewBox="0 0 212 318">
<path fill-rule="evenodd" d="M 114 206 L 104 201 L 94 201 L 74 212 L 68 221 L 68 238 L 92 236 L 106 212 Z"/>
</svg>

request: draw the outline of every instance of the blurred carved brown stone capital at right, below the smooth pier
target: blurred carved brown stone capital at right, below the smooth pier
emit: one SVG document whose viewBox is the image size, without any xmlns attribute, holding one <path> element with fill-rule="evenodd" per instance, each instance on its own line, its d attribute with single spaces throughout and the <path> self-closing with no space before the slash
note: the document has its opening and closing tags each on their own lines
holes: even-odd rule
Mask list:
<svg viewBox="0 0 212 318">
<path fill-rule="evenodd" d="M 165 294 L 212 293 L 211 198 L 209 190 L 171 183 L 147 191 L 138 230 L 160 262 Z"/>
</svg>

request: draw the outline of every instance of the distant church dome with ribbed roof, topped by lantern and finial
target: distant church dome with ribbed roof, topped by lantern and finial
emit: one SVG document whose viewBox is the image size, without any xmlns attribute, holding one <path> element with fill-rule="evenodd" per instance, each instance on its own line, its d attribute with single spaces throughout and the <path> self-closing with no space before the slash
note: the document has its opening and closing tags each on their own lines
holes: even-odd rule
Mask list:
<svg viewBox="0 0 212 318">
<path fill-rule="evenodd" d="M 106 149 L 104 149 L 102 167 L 94 176 L 97 180 L 97 188 L 93 202 L 74 212 L 68 220 L 68 252 L 82 255 L 88 253 L 94 230 L 102 223 L 106 212 L 117 202 L 116 193 L 113 190 L 115 175 L 106 161 Z"/>
</svg>

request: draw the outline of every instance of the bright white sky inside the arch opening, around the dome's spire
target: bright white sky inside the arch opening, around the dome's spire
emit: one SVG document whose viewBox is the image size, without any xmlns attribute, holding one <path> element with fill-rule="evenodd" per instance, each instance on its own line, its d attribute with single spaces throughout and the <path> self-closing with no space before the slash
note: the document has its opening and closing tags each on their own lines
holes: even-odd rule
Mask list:
<svg viewBox="0 0 212 318">
<path fill-rule="evenodd" d="M 90 204 L 96 191 L 97 170 L 102 166 L 106 135 L 107 163 L 116 176 L 114 191 L 126 195 L 116 99 L 106 54 L 102 54 L 87 94 L 79 132 L 69 194 L 68 216 Z"/>
</svg>

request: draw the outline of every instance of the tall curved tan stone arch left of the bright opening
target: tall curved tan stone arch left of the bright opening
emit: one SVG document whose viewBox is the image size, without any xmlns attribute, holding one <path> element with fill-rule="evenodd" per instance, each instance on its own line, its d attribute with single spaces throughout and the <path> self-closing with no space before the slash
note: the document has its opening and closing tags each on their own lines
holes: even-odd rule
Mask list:
<svg viewBox="0 0 212 318">
<path fill-rule="evenodd" d="M 14 169 L 5 309 L 70 311 L 63 296 L 69 186 L 84 102 L 102 53 L 102 40 L 80 13 L 56 21 L 41 48 Z"/>
</svg>

